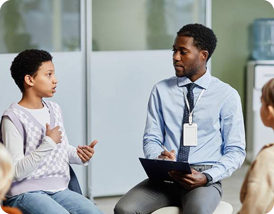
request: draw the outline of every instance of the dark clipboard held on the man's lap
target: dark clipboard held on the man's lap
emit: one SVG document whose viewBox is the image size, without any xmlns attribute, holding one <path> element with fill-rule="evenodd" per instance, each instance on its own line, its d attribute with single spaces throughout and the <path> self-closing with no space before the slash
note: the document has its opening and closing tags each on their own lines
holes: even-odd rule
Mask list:
<svg viewBox="0 0 274 214">
<path fill-rule="evenodd" d="M 168 172 L 172 170 L 182 171 L 185 174 L 192 174 L 188 162 L 176 162 L 170 160 L 145 159 L 139 157 L 145 173 L 151 180 L 174 181 Z"/>
</svg>

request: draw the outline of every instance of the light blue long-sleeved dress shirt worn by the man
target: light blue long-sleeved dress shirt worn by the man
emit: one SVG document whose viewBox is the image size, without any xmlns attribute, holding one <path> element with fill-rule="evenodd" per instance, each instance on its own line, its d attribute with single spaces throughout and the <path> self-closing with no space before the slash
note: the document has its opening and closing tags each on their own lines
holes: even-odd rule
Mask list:
<svg viewBox="0 0 274 214">
<path fill-rule="evenodd" d="M 178 155 L 184 114 L 187 77 L 171 77 L 157 83 L 150 94 L 143 149 L 146 158 L 157 158 L 163 144 Z M 241 98 L 238 92 L 207 72 L 194 82 L 193 123 L 198 125 L 198 145 L 191 146 L 189 163 L 213 165 L 204 172 L 213 183 L 229 177 L 244 162 L 245 132 Z"/>
</svg>

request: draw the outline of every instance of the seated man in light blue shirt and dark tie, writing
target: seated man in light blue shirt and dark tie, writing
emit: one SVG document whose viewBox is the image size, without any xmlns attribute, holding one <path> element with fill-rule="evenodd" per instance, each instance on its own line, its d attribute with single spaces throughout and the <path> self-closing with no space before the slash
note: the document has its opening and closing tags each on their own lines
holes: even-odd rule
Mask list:
<svg viewBox="0 0 274 214">
<path fill-rule="evenodd" d="M 201 24 L 182 27 L 173 44 L 176 77 L 157 83 L 148 104 L 145 157 L 188 161 L 192 174 L 172 171 L 174 183 L 142 181 L 118 201 L 115 214 L 147 214 L 172 205 L 181 205 L 185 214 L 203 214 L 218 206 L 221 180 L 242 165 L 246 154 L 239 94 L 206 67 L 216 43 L 213 31 Z M 190 126 L 197 126 L 198 139 Z M 185 142 L 184 135 L 192 140 Z"/>
</svg>

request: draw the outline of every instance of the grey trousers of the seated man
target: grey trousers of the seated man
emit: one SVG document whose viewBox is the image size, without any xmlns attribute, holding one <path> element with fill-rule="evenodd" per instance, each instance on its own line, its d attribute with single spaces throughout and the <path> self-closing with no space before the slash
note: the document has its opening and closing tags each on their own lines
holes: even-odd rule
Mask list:
<svg viewBox="0 0 274 214">
<path fill-rule="evenodd" d="M 201 166 L 192 167 L 204 171 Z M 116 204 L 114 214 L 149 214 L 161 207 L 182 206 L 184 214 L 212 214 L 222 197 L 221 181 L 187 190 L 178 183 L 146 179 Z"/>
</svg>

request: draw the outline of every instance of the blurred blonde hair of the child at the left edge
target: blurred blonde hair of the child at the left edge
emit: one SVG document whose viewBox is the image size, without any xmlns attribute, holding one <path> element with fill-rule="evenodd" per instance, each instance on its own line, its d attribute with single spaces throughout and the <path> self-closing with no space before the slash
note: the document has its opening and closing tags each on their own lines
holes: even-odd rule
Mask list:
<svg viewBox="0 0 274 214">
<path fill-rule="evenodd" d="M 10 188 L 14 176 L 12 158 L 5 146 L 0 142 L 0 202 Z"/>
</svg>

